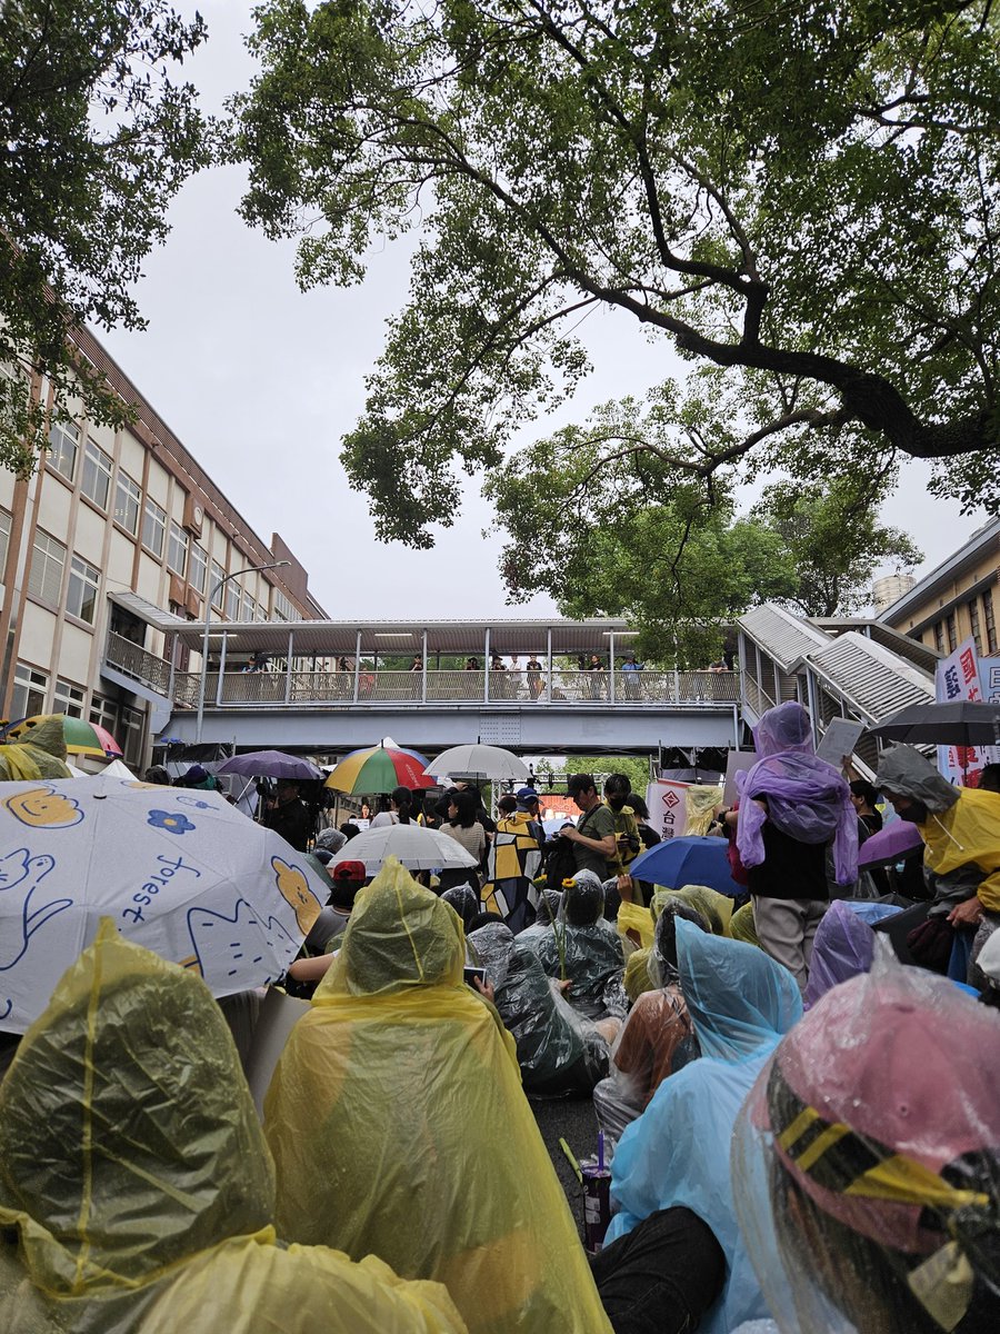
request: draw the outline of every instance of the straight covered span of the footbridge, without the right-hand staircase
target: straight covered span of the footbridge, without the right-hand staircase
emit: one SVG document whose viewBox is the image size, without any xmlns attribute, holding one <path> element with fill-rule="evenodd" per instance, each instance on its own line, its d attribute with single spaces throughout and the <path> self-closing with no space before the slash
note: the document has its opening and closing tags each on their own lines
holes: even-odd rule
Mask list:
<svg viewBox="0 0 1000 1334">
<path fill-rule="evenodd" d="M 104 675 L 155 698 L 161 718 L 168 707 L 163 735 L 181 742 L 649 752 L 732 746 L 739 731 L 736 672 L 635 670 L 624 620 L 223 622 L 203 662 L 204 623 L 124 596 L 164 650 L 109 634 Z"/>
</svg>

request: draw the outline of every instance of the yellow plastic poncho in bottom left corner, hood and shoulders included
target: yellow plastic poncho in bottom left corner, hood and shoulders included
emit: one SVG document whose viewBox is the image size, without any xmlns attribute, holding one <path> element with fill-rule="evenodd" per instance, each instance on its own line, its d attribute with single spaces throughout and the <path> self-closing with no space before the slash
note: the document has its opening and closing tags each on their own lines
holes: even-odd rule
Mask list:
<svg viewBox="0 0 1000 1334">
<path fill-rule="evenodd" d="M 273 1203 L 208 988 L 105 922 L 0 1086 L 0 1330 L 461 1334 L 437 1285 L 276 1246 Z"/>
</svg>

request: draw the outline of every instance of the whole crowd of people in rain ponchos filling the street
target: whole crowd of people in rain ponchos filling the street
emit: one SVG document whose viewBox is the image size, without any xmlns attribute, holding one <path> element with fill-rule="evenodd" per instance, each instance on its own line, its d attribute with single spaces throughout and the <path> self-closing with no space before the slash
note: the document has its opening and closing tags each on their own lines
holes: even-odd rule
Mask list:
<svg viewBox="0 0 1000 1334">
<path fill-rule="evenodd" d="M 203 984 L 101 932 L 0 1086 L 0 1326 L 1000 1329 L 1000 775 L 849 782 L 796 703 L 755 747 L 709 835 L 736 899 L 632 874 L 619 774 L 548 838 L 531 787 L 387 794 L 476 859 L 441 876 L 323 830 L 263 1131 Z M 889 807 L 916 896 L 861 866 Z M 593 1099 L 596 1254 L 525 1094 Z"/>
</svg>

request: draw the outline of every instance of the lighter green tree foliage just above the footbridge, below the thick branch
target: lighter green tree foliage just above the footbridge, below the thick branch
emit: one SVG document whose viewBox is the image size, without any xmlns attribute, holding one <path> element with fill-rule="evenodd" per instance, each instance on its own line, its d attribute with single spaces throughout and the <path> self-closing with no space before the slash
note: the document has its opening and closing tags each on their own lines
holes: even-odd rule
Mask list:
<svg viewBox="0 0 1000 1334">
<path fill-rule="evenodd" d="M 645 406 L 604 404 L 489 476 L 511 600 L 548 591 L 567 616 L 628 616 L 641 654 L 704 666 L 757 602 L 847 614 L 869 600 L 875 566 L 921 559 L 876 518 L 891 471 L 779 482 L 737 516 L 721 479 L 705 487 L 679 470 L 673 422 L 692 448 L 732 435 L 725 403 L 700 383 L 713 378 L 696 375 L 683 398 L 667 384 Z"/>
</svg>

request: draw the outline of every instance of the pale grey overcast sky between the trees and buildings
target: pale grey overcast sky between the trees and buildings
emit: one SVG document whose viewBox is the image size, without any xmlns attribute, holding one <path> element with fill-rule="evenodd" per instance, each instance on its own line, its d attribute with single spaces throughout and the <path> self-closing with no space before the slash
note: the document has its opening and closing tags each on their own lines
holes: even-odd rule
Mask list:
<svg viewBox="0 0 1000 1334">
<path fill-rule="evenodd" d="M 240 0 L 199 4 L 209 41 L 187 69 L 211 109 L 251 77 L 241 41 L 249 8 Z M 301 293 L 295 247 L 264 240 L 236 216 L 243 187 L 235 168 L 188 183 L 171 213 L 173 231 L 139 287 L 149 328 L 99 331 L 111 355 L 257 534 L 265 542 L 281 534 L 331 616 L 547 615 L 547 598 L 504 608 L 496 574 L 503 543 L 483 538 L 491 514 L 472 480 L 461 519 L 432 551 L 375 540 L 365 499 L 347 486 L 340 438 L 363 410 L 384 321 L 405 300 L 405 253 L 373 253 L 360 288 Z M 649 344 L 627 315 L 595 313 L 580 334 L 595 374 L 537 434 L 583 420 L 596 403 L 641 394 L 676 364 L 669 346 Z M 928 476 L 925 466 L 907 464 L 884 512 L 925 552 L 924 568 L 984 519 L 961 518 L 957 504 L 928 496 Z"/>
</svg>

